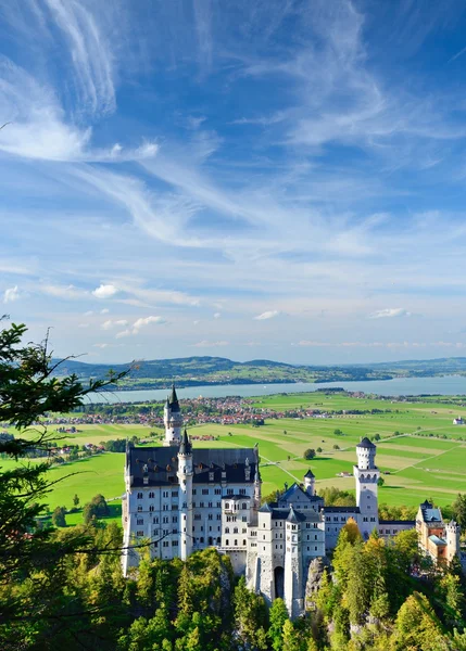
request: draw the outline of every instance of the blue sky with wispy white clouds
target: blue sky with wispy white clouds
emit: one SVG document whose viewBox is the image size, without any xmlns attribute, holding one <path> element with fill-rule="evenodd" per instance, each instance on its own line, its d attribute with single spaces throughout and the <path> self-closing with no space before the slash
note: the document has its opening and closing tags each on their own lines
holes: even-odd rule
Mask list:
<svg viewBox="0 0 466 651">
<path fill-rule="evenodd" d="M 466 356 L 466 5 L 0 2 L 0 314 L 56 356 Z"/>
</svg>

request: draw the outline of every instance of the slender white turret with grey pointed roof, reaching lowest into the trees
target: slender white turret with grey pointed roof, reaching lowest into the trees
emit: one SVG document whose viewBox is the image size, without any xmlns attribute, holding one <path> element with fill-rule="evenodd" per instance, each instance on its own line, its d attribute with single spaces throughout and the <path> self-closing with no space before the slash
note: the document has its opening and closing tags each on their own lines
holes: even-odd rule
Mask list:
<svg viewBox="0 0 466 651">
<path fill-rule="evenodd" d="M 301 520 L 304 516 L 290 507 L 286 522 L 285 603 L 291 620 L 303 612 L 303 563 L 301 550 Z"/>
</svg>

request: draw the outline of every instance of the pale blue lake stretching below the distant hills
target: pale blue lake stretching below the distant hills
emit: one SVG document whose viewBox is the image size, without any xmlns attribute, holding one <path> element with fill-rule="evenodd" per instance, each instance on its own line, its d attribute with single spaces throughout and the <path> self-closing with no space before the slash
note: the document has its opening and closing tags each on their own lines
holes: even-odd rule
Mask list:
<svg viewBox="0 0 466 651">
<path fill-rule="evenodd" d="M 453 396 L 466 394 L 466 378 L 444 375 L 442 378 L 402 378 L 395 380 L 375 380 L 368 382 L 323 382 L 320 384 L 301 382 L 295 384 L 222 384 L 189 386 L 177 388 L 179 398 L 224 398 L 226 396 L 269 396 L 277 393 L 304 393 L 324 387 L 341 386 L 347 391 L 363 391 L 385 396 L 433 394 Z M 92 396 L 92 403 L 142 403 L 144 400 L 164 400 L 168 388 L 148 388 L 141 391 L 105 392 Z"/>
</svg>

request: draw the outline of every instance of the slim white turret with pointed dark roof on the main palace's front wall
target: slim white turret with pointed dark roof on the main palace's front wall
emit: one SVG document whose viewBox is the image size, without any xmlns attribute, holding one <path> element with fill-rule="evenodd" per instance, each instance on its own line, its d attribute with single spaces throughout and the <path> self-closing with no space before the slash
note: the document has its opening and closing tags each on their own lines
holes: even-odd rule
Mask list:
<svg viewBox="0 0 466 651">
<path fill-rule="evenodd" d="M 179 545 L 180 558 L 186 561 L 192 550 L 192 446 L 185 430 L 178 451 L 179 482 Z"/>
</svg>

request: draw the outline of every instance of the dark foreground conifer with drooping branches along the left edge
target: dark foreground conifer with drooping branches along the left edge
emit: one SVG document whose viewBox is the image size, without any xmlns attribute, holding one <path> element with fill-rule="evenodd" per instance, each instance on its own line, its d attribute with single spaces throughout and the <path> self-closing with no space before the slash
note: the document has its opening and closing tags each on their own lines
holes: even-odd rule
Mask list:
<svg viewBox="0 0 466 651">
<path fill-rule="evenodd" d="M 49 411 L 68 412 L 88 393 L 123 376 L 90 381 L 87 387 L 74 374 L 58 378 L 59 365 L 52 362 L 48 340 L 37 345 L 23 344 L 26 331 L 24 324 L 15 323 L 0 331 L 0 422 L 14 425 L 18 432 L 14 438 L 0 439 L 0 456 L 15 459 L 33 451 L 47 452 L 49 443 L 56 441 L 55 433 L 49 435 L 47 427 L 35 424 L 41 417 Z M 51 611 L 63 596 L 66 559 L 89 542 L 89 536 L 79 528 L 59 540 L 50 527 L 37 527 L 47 510 L 45 497 L 51 484 L 48 468 L 48 463 L 26 462 L 11 470 L 0 469 L 2 649 L 14 648 L 18 639 L 30 636 L 40 647 L 38 636 L 43 639 L 45 624 L 50 622 Z M 63 605 L 61 611 L 54 611 L 56 623 L 63 615 Z M 67 621 L 71 624 L 70 613 Z"/>
</svg>

